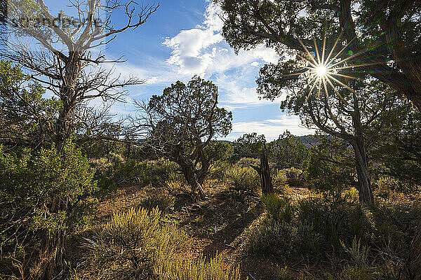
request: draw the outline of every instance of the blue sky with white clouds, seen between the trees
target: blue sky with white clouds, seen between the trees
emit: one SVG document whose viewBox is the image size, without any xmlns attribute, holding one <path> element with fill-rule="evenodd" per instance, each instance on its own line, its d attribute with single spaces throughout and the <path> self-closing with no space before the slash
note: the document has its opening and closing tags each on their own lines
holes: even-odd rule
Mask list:
<svg viewBox="0 0 421 280">
<path fill-rule="evenodd" d="M 46 0 L 53 15 L 66 2 Z M 143 85 L 130 87 L 127 102 L 114 104 L 112 113 L 133 113 L 134 99 L 147 100 L 177 80 L 187 83 L 199 75 L 218 86 L 219 105 L 232 111 L 232 132 L 225 139 L 252 132 L 265 134 L 268 140 L 286 130 L 295 135 L 313 133 L 297 116 L 283 113 L 279 100 L 259 99 L 256 93 L 260 67 L 278 59 L 274 50 L 261 45 L 236 55 L 222 38 L 221 10 L 210 1 L 162 0 L 159 5 L 145 25 L 119 34 L 103 50 L 108 59 L 123 55 L 126 60 L 113 66 L 115 73 L 146 80 Z M 112 20 L 116 26 L 125 23 L 119 13 L 113 14 Z"/>
</svg>

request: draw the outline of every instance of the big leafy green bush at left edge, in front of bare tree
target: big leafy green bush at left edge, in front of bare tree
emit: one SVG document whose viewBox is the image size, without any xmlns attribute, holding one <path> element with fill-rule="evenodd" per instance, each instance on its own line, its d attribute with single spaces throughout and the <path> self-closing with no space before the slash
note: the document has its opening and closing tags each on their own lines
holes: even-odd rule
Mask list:
<svg viewBox="0 0 421 280">
<path fill-rule="evenodd" d="M 11 226 L 3 232 L 1 246 L 22 241 L 15 237 L 23 230 L 21 225 L 25 230 L 53 233 L 86 221 L 78 209 L 97 190 L 93 176 L 87 158 L 71 141 L 65 144 L 62 155 L 54 146 L 20 153 L 6 153 L 0 146 L 1 224 Z M 48 205 L 57 200 L 66 201 L 71 210 L 48 211 Z"/>
</svg>

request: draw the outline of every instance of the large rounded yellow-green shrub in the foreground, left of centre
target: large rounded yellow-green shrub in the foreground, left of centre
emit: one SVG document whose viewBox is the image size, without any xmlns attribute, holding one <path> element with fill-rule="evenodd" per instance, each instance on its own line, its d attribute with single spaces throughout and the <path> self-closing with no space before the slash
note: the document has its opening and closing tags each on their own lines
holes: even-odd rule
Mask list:
<svg viewBox="0 0 421 280">
<path fill-rule="evenodd" d="M 156 258 L 171 258 L 189 237 L 175 225 L 164 225 L 161 211 L 130 209 L 112 216 L 93 239 L 86 239 L 93 278 L 151 279 Z"/>
</svg>

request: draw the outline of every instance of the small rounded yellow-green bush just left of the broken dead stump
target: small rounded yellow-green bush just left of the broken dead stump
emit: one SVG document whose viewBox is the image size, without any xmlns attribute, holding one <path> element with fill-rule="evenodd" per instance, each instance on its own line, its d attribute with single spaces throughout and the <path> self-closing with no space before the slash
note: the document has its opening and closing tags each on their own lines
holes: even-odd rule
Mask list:
<svg viewBox="0 0 421 280">
<path fill-rule="evenodd" d="M 260 176 L 251 167 L 232 165 L 226 173 L 226 181 L 236 190 L 252 191 L 260 186 Z"/>
</svg>

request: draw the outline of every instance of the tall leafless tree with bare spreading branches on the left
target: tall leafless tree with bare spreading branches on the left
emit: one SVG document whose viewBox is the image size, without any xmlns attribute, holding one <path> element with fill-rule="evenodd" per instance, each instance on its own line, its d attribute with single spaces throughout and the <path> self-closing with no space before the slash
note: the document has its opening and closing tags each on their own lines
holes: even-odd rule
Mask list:
<svg viewBox="0 0 421 280">
<path fill-rule="evenodd" d="M 67 9 L 74 11 L 75 16 L 60 13 L 53 17 L 43 0 L 23 3 L 11 0 L 1 8 L 0 44 L 4 48 L 0 55 L 27 69 L 34 80 L 60 99 L 54 134 L 57 151 L 62 153 L 65 141 L 76 130 L 83 130 L 84 126 L 86 129 L 88 123 L 81 125 L 81 119 L 94 112 L 89 109 L 90 100 L 121 101 L 125 93 L 123 87 L 142 83 L 135 77 L 121 78 L 112 67 L 102 66 L 123 60 L 107 60 L 98 48 L 113 41 L 121 32 L 144 25 L 159 5 L 142 6 L 135 1 L 119 0 L 105 3 L 69 0 Z M 112 22 L 112 13 L 116 10 L 126 14 L 126 22 L 121 26 L 114 26 Z M 5 28 L 7 34 L 4 34 Z M 104 113 L 97 116 L 104 116 Z M 98 125 L 95 120 L 90 125 Z M 67 200 L 57 199 L 46 209 L 50 213 L 67 211 L 67 204 Z M 51 237 L 45 236 L 43 249 L 51 259 L 45 279 L 51 279 L 60 271 L 65 239 L 65 230 L 59 230 Z"/>
</svg>

